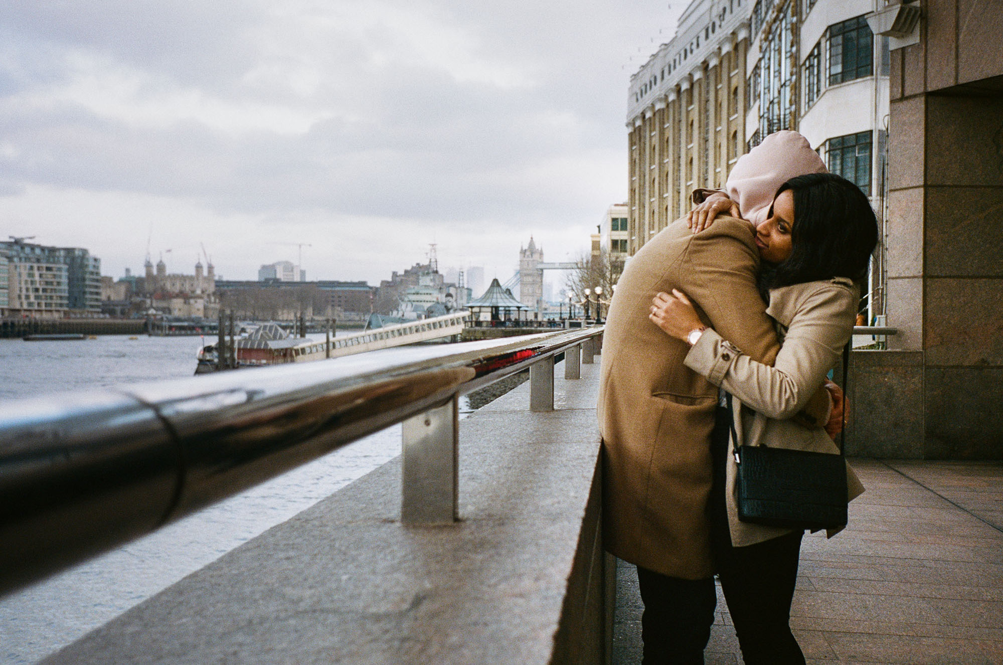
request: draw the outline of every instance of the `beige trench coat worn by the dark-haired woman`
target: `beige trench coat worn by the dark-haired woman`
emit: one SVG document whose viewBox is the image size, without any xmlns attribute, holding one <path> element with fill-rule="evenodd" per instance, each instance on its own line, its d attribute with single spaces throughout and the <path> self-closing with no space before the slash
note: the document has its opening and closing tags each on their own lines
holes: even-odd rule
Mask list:
<svg viewBox="0 0 1003 665">
<path fill-rule="evenodd" d="M 821 429 L 808 429 L 789 418 L 799 411 L 839 363 L 850 340 L 860 290 L 848 279 L 807 282 L 773 289 L 766 313 L 779 328 L 783 347 L 772 367 L 756 362 L 714 330 L 707 330 L 686 355 L 686 366 L 720 385 L 741 402 L 735 404 L 737 444 L 840 452 Z M 730 442 L 726 477 L 728 527 L 735 547 L 754 545 L 792 530 L 738 520 L 734 448 Z M 864 491 L 848 465 L 849 500 Z M 829 536 L 841 530 L 831 530 Z"/>
</svg>

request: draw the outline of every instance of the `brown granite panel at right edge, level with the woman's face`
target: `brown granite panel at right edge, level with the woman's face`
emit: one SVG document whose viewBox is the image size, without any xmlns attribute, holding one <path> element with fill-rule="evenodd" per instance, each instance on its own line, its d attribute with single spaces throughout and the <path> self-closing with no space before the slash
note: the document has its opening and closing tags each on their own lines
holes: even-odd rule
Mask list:
<svg viewBox="0 0 1003 665">
<path fill-rule="evenodd" d="M 926 192 L 927 276 L 1003 277 L 1000 258 L 1003 257 L 1003 187 L 930 187 Z M 895 204 L 890 197 L 890 211 Z M 901 205 L 908 208 L 905 202 Z M 889 235 L 891 271 L 894 247 L 891 230 Z M 915 243 L 916 239 L 910 238 L 909 242 Z M 922 242 L 921 237 L 921 247 Z M 902 261 L 908 263 L 906 259 Z"/>
</svg>

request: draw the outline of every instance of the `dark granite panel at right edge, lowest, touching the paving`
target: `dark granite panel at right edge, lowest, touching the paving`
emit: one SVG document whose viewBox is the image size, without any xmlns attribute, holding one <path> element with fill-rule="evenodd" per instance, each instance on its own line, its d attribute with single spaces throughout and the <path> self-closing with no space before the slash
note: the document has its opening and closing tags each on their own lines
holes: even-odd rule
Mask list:
<svg viewBox="0 0 1003 665">
<path fill-rule="evenodd" d="M 928 367 L 928 459 L 1003 459 L 1003 367 Z"/>
</svg>

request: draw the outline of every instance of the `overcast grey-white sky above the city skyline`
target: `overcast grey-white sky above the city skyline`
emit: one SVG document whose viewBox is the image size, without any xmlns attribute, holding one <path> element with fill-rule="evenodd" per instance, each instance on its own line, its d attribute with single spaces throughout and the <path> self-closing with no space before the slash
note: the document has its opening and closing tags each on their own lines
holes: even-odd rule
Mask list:
<svg viewBox="0 0 1003 665">
<path fill-rule="evenodd" d="M 685 3 L 0 0 L 0 234 L 102 273 L 508 279 L 626 198 L 630 74 Z M 661 31 L 661 32 L 660 32 Z M 631 59 L 633 58 L 633 59 Z M 166 252 L 171 250 L 171 252 Z"/>
</svg>

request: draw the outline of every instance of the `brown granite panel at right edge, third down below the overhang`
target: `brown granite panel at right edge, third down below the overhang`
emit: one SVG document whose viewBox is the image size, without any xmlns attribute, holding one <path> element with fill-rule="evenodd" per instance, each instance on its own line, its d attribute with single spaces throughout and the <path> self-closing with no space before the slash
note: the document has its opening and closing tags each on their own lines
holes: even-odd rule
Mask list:
<svg viewBox="0 0 1003 665">
<path fill-rule="evenodd" d="M 928 367 L 1003 366 L 1003 279 L 927 279 L 925 291 Z"/>
</svg>

